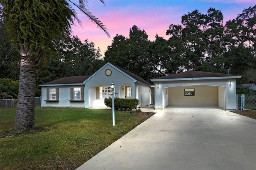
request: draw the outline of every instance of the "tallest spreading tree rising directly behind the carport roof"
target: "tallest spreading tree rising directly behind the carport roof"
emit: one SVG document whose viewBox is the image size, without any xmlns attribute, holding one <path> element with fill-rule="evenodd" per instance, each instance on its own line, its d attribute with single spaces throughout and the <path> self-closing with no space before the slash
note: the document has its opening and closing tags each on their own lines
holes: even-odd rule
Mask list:
<svg viewBox="0 0 256 170">
<path fill-rule="evenodd" d="M 184 61 L 180 68 L 186 68 L 189 61 L 192 61 L 195 70 L 202 71 L 202 65 L 213 67 L 214 59 L 222 54 L 222 12 L 214 8 L 209 8 L 207 14 L 194 10 L 182 16 L 181 22 L 183 26 L 171 24 L 166 31 L 166 35 L 171 36 L 168 40 L 170 47 L 181 49 L 177 51 Z"/>
</svg>

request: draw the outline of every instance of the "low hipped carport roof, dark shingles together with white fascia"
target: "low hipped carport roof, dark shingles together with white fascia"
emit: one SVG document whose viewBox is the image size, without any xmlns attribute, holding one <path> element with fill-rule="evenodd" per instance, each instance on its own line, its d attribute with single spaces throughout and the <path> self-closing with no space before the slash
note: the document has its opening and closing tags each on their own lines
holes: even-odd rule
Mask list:
<svg viewBox="0 0 256 170">
<path fill-rule="evenodd" d="M 202 80 L 202 79 L 238 79 L 241 75 L 211 73 L 205 71 L 185 71 L 163 77 L 151 79 L 151 81 L 178 81 L 178 80 Z"/>
</svg>

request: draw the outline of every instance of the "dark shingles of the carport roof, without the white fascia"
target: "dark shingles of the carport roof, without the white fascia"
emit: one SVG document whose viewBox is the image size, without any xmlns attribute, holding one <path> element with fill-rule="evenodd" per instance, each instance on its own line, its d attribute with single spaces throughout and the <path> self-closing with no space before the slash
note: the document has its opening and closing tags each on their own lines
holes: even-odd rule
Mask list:
<svg viewBox="0 0 256 170">
<path fill-rule="evenodd" d="M 196 77 L 230 77 L 230 76 L 238 76 L 232 74 L 223 74 L 223 73 L 211 73 L 211 72 L 204 72 L 204 71 L 185 71 L 180 72 L 172 75 L 166 75 L 163 77 L 157 77 L 155 79 L 184 79 L 184 78 L 196 78 Z"/>
</svg>

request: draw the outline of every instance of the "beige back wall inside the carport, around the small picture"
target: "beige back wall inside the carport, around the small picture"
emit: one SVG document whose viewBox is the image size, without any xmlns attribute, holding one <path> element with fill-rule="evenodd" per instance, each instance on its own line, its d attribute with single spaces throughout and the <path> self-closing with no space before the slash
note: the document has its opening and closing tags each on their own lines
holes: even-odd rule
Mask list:
<svg viewBox="0 0 256 170">
<path fill-rule="evenodd" d="M 195 89 L 195 95 L 185 96 L 184 89 Z M 218 106 L 218 86 L 170 87 L 169 106 Z"/>
</svg>

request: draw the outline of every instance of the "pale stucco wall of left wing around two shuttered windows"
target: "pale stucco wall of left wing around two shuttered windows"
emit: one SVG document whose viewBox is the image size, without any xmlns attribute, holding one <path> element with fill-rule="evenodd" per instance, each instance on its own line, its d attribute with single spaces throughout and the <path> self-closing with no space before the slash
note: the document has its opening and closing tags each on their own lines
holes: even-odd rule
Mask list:
<svg viewBox="0 0 256 170">
<path fill-rule="evenodd" d="M 84 87 L 83 85 L 78 86 L 50 86 L 42 87 L 42 99 L 41 107 L 84 107 L 85 102 L 70 102 L 70 88 L 72 87 Z M 46 89 L 48 88 L 59 88 L 59 101 L 58 102 L 46 102 Z"/>
</svg>

